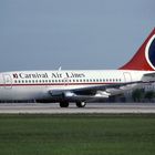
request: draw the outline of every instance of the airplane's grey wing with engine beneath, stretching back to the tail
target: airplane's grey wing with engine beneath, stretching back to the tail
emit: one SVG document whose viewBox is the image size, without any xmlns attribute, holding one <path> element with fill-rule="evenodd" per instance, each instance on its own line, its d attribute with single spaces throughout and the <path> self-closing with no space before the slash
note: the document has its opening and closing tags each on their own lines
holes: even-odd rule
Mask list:
<svg viewBox="0 0 155 155">
<path fill-rule="evenodd" d="M 112 95 L 123 94 L 126 91 L 133 89 L 140 89 L 145 84 L 149 84 L 155 82 L 155 73 L 144 74 L 142 81 L 134 82 L 125 82 L 125 83 L 112 83 L 112 84 L 103 84 L 103 85 L 94 85 L 94 86 L 85 86 L 79 89 L 71 90 L 50 90 L 49 93 L 51 96 L 59 95 L 69 101 L 92 101 L 100 99 L 107 99 Z"/>
</svg>

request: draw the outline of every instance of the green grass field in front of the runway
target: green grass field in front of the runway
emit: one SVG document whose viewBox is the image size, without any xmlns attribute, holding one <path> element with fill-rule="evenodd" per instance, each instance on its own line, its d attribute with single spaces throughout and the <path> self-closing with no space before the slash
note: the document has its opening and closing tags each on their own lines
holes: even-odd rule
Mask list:
<svg viewBox="0 0 155 155">
<path fill-rule="evenodd" d="M 154 155 L 155 115 L 0 115 L 0 155 Z"/>
</svg>

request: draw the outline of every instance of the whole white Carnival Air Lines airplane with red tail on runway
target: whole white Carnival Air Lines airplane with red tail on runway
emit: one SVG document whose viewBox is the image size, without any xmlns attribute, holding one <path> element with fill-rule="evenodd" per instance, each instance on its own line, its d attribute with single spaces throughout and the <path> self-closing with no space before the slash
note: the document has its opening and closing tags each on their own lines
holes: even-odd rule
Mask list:
<svg viewBox="0 0 155 155">
<path fill-rule="evenodd" d="M 136 54 L 117 70 L 13 71 L 0 73 L 0 101 L 74 102 L 84 107 L 127 90 L 155 82 L 155 29 Z"/>
</svg>

